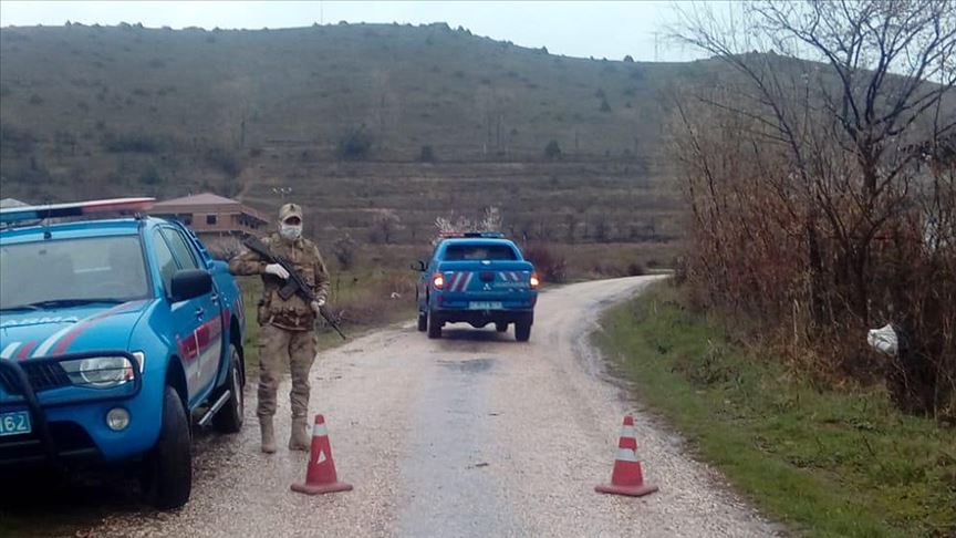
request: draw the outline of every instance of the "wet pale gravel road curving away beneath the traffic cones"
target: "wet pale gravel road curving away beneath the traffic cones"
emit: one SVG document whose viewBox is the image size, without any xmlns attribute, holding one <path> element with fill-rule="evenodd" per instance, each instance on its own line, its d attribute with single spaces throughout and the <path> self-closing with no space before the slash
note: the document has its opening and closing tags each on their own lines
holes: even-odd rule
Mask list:
<svg viewBox="0 0 956 538">
<path fill-rule="evenodd" d="M 43 534 L 97 537 L 773 535 L 778 527 L 686 456 L 679 437 L 627 402 L 588 345 L 602 308 L 650 280 L 542 294 L 529 343 L 467 325 L 446 325 L 432 341 L 408 324 L 323 353 L 311 408 L 325 414 L 339 477 L 353 492 L 289 490 L 306 456 L 284 448 L 288 381 L 280 451 L 264 455 L 250 380 L 243 432 L 197 435 L 181 510 L 139 506 L 135 486 L 114 480 L 70 484 L 45 499 L 66 525 L 44 525 L 37 509 L 28 517 Z M 610 478 L 625 412 L 634 412 L 645 479 L 661 487 L 650 497 L 593 492 Z"/>
</svg>

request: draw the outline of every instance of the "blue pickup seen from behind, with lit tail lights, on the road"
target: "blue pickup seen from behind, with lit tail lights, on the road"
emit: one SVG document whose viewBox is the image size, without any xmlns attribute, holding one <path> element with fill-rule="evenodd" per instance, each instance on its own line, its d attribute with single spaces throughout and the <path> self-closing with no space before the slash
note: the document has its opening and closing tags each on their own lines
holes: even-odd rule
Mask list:
<svg viewBox="0 0 956 538">
<path fill-rule="evenodd" d="M 444 235 L 426 263 L 418 261 L 418 330 L 441 338 L 445 323 L 466 322 L 498 332 L 515 324 L 527 342 L 534 323 L 538 275 L 521 250 L 499 232 Z"/>
</svg>

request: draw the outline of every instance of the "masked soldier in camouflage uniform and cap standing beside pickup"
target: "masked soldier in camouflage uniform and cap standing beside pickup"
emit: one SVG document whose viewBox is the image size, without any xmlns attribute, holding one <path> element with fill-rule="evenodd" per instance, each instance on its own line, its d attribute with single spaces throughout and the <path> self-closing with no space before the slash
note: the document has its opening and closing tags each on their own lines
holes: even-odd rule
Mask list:
<svg viewBox="0 0 956 538">
<path fill-rule="evenodd" d="M 279 297 L 279 289 L 289 273 L 278 263 L 269 263 L 256 252 L 243 252 L 229 262 L 232 275 L 262 276 L 262 299 L 259 301 L 259 426 L 262 431 L 262 452 L 276 452 L 276 393 L 282 363 L 288 361 L 292 373 L 292 433 L 290 451 L 308 451 L 306 431 L 309 413 L 309 371 L 316 353 L 315 319 L 329 293 L 329 272 L 319 248 L 302 237 L 302 208 L 285 204 L 279 209 L 279 232 L 262 240 L 277 256 L 288 260 L 312 288 L 316 301 L 309 304 L 298 293 L 288 300 Z"/>
</svg>

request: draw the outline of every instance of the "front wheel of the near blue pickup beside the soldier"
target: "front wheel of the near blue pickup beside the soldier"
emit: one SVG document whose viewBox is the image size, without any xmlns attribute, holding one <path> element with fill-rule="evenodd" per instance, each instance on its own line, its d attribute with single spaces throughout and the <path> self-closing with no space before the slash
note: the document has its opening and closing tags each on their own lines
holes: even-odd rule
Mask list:
<svg viewBox="0 0 956 538">
<path fill-rule="evenodd" d="M 179 394 L 169 385 L 163 397 L 159 439 L 144 462 L 143 493 L 159 509 L 178 508 L 193 489 L 193 446 L 189 418 Z"/>
</svg>

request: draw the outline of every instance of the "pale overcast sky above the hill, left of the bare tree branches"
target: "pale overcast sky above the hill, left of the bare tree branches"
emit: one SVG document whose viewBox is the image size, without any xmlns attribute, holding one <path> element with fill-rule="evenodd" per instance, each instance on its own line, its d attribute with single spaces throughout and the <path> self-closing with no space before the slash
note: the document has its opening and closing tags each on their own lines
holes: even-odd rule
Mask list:
<svg viewBox="0 0 956 538">
<path fill-rule="evenodd" d="M 726 3 L 726 2 L 724 2 Z M 146 27 L 293 28 L 313 22 L 447 22 L 551 53 L 620 60 L 702 58 L 664 39 L 673 1 L 644 2 L 27 2 L 0 1 L 0 25 L 142 22 Z"/>
</svg>

